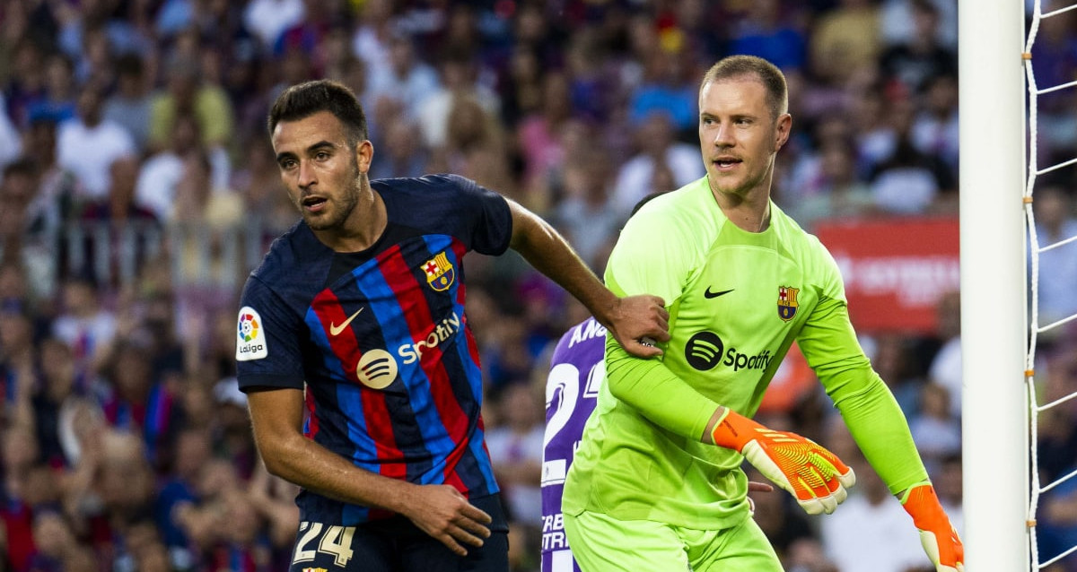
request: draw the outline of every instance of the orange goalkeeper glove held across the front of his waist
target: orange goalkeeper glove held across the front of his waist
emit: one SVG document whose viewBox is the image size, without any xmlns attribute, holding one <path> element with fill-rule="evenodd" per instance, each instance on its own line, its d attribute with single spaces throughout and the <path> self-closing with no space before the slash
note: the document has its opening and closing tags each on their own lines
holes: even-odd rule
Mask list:
<svg viewBox="0 0 1077 572">
<path fill-rule="evenodd" d="M 789 491 L 808 514 L 830 514 L 856 484 L 853 470 L 815 442 L 774 431 L 726 407 L 711 431 L 715 445 L 744 455 L 775 485 Z"/>
</svg>

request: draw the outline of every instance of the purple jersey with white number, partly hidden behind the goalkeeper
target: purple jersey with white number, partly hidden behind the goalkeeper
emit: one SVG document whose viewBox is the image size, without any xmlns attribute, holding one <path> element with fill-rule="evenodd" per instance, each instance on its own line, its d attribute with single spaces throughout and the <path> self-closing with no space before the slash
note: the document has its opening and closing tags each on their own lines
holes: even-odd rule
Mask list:
<svg viewBox="0 0 1077 572">
<path fill-rule="evenodd" d="M 605 333 L 595 318 L 587 318 L 561 337 L 550 359 L 542 463 L 542 572 L 579 571 L 564 535 L 561 490 L 605 380 Z"/>
</svg>

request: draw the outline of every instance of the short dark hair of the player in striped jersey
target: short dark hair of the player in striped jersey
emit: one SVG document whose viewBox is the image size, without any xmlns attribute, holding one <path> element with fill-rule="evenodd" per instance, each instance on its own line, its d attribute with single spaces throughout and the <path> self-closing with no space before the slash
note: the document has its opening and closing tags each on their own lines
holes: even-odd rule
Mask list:
<svg viewBox="0 0 1077 572">
<path fill-rule="evenodd" d="M 332 80 L 318 80 L 293 85 L 285 89 L 269 110 L 269 135 L 277 124 L 295 121 L 327 111 L 344 124 L 348 144 L 356 146 L 366 141 L 366 114 L 348 86 Z"/>
</svg>

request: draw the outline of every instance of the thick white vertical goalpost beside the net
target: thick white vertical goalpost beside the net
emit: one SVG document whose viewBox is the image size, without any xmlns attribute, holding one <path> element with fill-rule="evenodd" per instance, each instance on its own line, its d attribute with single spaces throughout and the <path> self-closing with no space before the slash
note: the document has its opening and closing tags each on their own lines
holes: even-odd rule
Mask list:
<svg viewBox="0 0 1077 572">
<path fill-rule="evenodd" d="M 1024 5 L 957 13 L 965 568 L 1029 570 Z"/>
</svg>

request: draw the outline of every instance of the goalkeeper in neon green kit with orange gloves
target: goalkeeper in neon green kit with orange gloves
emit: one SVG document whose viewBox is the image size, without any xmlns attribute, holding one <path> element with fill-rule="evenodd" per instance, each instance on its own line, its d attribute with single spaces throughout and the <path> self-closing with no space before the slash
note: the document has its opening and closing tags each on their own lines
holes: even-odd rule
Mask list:
<svg viewBox="0 0 1077 572">
<path fill-rule="evenodd" d="M 658 359 L 607 340 L 562 500 L 581 569 L 782 570 L 751 518 L 741 461 L 810 514 L 834 512 L 855 483 L 829 451 L 751 419 L 796 341 L 937 571 L 963 571 L 908 424 L 857 343 L 837 264 L 770 200 L 793 123 L 782 72 L 725 58 L 703 77 L 699 111 L 707 176 L 632 216 L 606 268 L 619 296 L 666 300 L 671 338 Z"/>
</svg>

